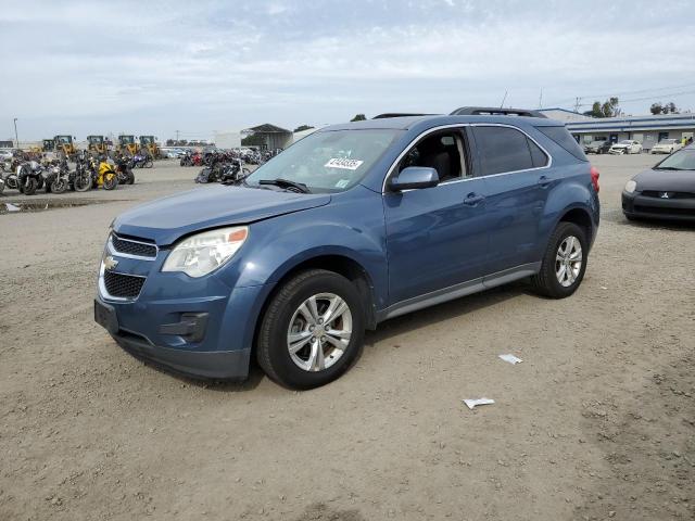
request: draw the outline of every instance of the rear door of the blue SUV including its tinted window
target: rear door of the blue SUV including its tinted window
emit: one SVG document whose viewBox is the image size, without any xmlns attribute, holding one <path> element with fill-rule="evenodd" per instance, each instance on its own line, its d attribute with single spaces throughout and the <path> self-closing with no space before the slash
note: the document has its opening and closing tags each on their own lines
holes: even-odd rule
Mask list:
<svg viewBox="0 0 695 521">
<path fill-rule="evenodd" d="M 549 155 L 516 127 L 471 129 L 490 221 L 485 275 L 538 262 L 541 216 L 553 183 Z"/>
</svg>

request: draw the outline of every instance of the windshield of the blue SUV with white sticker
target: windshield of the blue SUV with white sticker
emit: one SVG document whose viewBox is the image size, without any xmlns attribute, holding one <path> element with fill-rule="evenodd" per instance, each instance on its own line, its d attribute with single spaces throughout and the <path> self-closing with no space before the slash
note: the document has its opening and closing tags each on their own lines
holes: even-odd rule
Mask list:
<svg viewBox="0 0 695 521">
<path fill-rule="evenodd" d="M 342 192 L 357 185 L 401 134 L 394 129 L 314 132 L 247 178 L 247 185 L 286 179 L 312 192 Z"/>
</svg>

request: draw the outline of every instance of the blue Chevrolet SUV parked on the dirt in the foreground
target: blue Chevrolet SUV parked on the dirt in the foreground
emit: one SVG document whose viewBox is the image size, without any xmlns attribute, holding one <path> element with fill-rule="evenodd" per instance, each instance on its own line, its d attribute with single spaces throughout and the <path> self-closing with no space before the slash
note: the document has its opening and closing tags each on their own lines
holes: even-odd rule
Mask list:
<svg viewBox="0 0 695 521">
<path fill-rule="evenodd" d="M 323 385 L 392 317 L 530 277 L 582 281 L 598 173 L 561 123 L 464 107 L 317 130 L 240 186 L 117 217 L 94 318 L 170 371 Z"/>
</svg>

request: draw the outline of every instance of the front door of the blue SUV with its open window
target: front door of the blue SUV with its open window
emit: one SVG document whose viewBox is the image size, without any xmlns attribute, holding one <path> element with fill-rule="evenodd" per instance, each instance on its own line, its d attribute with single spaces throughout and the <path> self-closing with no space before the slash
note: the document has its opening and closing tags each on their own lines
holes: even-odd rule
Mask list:
<svg viewBox="0 0 695 521">
<path fill-rule="evenodd" d="M 396 167 L 435 168 L 440 185 L 383 195 L 390 305 L 483 275 L 484 181 L 472 177 L 468 150 L 462 130 L 433 132 Z"/>
</svg>

